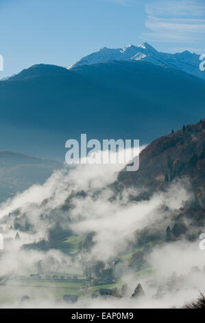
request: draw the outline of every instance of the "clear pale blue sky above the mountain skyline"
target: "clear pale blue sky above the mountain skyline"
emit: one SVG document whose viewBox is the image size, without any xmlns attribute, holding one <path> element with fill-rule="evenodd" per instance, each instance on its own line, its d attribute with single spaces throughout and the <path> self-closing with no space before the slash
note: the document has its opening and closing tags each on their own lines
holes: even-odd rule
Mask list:
<svg viewBox="0 0 205 323">
<path fill-rule="evenodd" d="M 204 36 L 204 0 L 0 0 L 0 78 L 144 41 L 163 52 L 204 54 Z"/>
</svg>

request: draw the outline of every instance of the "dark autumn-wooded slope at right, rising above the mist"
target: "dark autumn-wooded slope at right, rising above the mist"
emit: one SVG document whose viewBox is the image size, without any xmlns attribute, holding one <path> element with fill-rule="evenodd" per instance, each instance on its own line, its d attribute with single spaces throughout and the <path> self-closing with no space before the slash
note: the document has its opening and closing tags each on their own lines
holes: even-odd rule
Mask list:
<svg viewBox="0 0 205 323">
<path fill-rule="evenodd" d="M 126 172 L 125 169 L 119 172 L 118 184 L 145 190 L 165 190 L 167 184 L 176 178 L 189 178 L 196 196 L 202 199 L 205 188 L 205 119 L 158 137 L 141 151 L 139 159 L 140 166 L 136 172 Z"/>
</svg>

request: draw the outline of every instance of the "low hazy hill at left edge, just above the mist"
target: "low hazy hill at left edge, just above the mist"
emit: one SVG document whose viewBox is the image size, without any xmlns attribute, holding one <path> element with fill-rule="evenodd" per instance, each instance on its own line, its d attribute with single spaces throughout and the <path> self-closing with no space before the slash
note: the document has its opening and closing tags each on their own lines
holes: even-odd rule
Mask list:
<svg viewBox="0 0 205 323">
<path fill-rule="evenodd" d="M 0 203 L 33 184 L 44 183 L 53 170 L 60 168 L 58 161 L 0 151 Z"/>
</svg>

